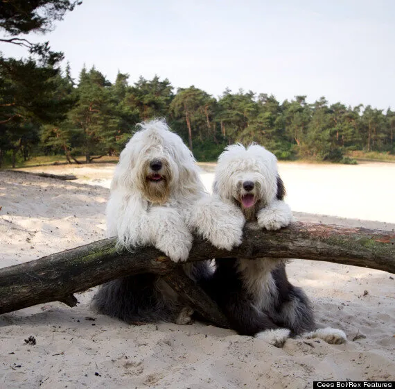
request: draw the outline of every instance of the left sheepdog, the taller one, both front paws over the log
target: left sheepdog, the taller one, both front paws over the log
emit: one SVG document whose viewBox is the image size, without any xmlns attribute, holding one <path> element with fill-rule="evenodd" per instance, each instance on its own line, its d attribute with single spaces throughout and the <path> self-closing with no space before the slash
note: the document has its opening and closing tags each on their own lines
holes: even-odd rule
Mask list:
<svg viewBox="0 0 395 389">
<path fill-rule="evenodd" d="M 131 252 L 137 246 L 153 245 L 174 262 L 188 258 L 193 231 L 222 249 L 240 245 L 243 213 L 205 192 L 195 159 L 182 139 L 164 120 L 144 122 L 138 128 L 114 172 L 106 209 L 107 235 L 118 237 L 119 247 Z M 195 281 L 209 275 L 208 263 L 183 268 Z M 105 283 L 93 306 L 128 323 L 186 324 L 192 313 L 155 274 Z"/>
</svg>

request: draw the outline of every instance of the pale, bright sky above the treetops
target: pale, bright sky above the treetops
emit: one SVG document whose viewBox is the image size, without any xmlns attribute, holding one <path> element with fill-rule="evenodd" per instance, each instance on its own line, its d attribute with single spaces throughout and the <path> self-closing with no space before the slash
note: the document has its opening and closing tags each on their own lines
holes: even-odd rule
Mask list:
<svg viewBox="0 0 395 389">
<path fill-rule="evenodd" d="M 130 84 L 157 74 L 215 97 L 243 88 L 395 108 L 393 0 L 83 0 L 30 39 L 63 51 L 76 81 L 85 64 L 112 82 L 119 71 Z"/>
</svg>

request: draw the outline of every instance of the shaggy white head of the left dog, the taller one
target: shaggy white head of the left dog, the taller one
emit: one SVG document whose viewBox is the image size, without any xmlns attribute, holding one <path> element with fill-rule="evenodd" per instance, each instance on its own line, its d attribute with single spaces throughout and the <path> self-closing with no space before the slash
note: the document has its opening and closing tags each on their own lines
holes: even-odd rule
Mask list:
<svg viewBox="0 0 395 389">
<path fill-rule="evenodd" d="M 136 192 L 154 204 L 198 192 L 195 158 L 164 120 L 138 124 L 114 172 L 111 190 Z M 188 192 L 188 193 L 186 193 Z"/>
</svg>

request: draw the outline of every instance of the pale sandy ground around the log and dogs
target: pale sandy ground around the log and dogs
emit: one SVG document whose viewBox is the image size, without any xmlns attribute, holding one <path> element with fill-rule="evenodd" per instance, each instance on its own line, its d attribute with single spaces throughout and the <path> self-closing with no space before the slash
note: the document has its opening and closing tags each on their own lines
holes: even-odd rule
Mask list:
<svg viewBox="0 0 395 389">
<path fill-rule="evenodd" d="M 113 169 L 29 169 L 73 173 L 77 181 L 0 172 L 0 267 L 103 238 Z M 204 169 L 211 185 L 210 166 Z M 285 163 L 280 172 L 298 220 L 395 228 L 395 164 Z M 312 388 L 324 379 L 395 380 L 394 274 L 307 260 L 292 261 L 288 274 L 313 300 L 318 321 L 346 332 L 346 344 L 290 339 L 277 349 L 200 322 L 128 326 L 91 312 L 88 290 L 76 308 L 55 302 L 0 316 L 0 388 Z M 28 336 L 37 344 L 27 345 Z"/>
</svg>

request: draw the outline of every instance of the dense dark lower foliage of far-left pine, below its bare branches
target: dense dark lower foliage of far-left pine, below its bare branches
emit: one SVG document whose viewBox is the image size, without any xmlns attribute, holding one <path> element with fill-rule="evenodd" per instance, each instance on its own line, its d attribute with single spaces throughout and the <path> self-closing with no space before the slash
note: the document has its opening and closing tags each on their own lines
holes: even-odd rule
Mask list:
<svg viewBox="0 0 395 389">
<path fill-rule="evenodd" d="M 40 141 L 40 126 L 62 122 L 73 101 L 60 93 L 64 83 L 58 69 L 41 67 L 33 60 L 3 59 L 0 66 L 1 151 L 21 151 L 28 158 Z"/>
</svg>

